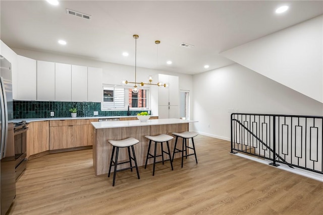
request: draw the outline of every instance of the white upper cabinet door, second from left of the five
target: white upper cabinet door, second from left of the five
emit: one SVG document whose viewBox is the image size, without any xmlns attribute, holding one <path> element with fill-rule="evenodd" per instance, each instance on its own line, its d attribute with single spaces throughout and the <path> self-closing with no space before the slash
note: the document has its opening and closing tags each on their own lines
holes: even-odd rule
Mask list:
<svg viewBox="0 0 323 215">
<path fill-rule="evenodd" d="M 55 63 L 37 60 L 37 101 L 55 101 Z"/>
</svg>

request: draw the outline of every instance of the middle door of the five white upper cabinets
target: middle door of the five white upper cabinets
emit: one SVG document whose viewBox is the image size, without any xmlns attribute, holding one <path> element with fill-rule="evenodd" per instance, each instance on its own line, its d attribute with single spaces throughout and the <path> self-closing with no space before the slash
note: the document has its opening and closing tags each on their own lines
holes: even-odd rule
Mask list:
<svg viewBox="0 0 323 215">
<path fill-rule="evenodd" d="M 71 64 L 55 63 L 55 100 L 70 102 L 72 88 Z"/>
</svg>

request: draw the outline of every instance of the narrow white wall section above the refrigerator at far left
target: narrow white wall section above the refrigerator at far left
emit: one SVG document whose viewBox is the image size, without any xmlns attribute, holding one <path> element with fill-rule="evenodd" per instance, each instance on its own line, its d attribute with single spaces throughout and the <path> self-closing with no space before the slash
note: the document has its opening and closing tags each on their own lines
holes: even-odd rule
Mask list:
<svg viewBox="0 0 323 215">
<path fill-rule="evenodd" d="M 18 57 L 17 54 L 9 48 L 2 40 L 0 40 L 0 54 L 5 57 L 9 62 L 11 62 L 11 71 L 12 71 L 12 82 L 18 82 Z M 13 86 L 12 88 L 13 98 L 17 98 L 17 86 Z"/>
</svg>

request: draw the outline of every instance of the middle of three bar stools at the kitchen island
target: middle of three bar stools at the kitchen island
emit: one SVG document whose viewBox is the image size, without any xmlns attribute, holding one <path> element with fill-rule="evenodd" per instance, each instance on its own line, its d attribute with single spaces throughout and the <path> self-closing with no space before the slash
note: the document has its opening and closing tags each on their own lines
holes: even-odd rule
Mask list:
<svg viewBox="0 0 323 215">
<path fill-rule="evenodd" d="M 164 162 L 165 161 L 170 161 L 171 162 L 171 166 L 172 166 L 172 170 L 174 170 L 173 169 L 172 159 L 171 159 L 170 146 L 169 146 L 169 143 L 168 143 L 168 141 L 171 140 L 171 139 L 173 139 L 174 137 L 173 136 L 170 136 L 170 135 L 167 135 L 167 134 L 160 134 L 160 135 L 157 135 L 157 136 L 145 136 L 145 137 L 147 139 L 149 139 L 149 146 L 148 146 L 148 151 L 147 151 L 145 169 L 147 167 L 147 161 L 148 161 L 148 159 L 153 158 L 152 176 L 154 176 L 154 174 L 155 174 L 155 164 L 156 163 L 163 162 L 163 165 L 164 165 Z M 155 150 L 154 150 L 154 154 L 153 155 L 149 153 L 150 152 L 151 141 L 154 141 L 155 142 Z M 166 142 L 166 144 L 167 144 L 168 153 L 165 152 L 164 149 L 163 149 L 163 142 Z M 156 155 L 157 143 L 160 143 L 160 147 L 161 147 L 161 154 L 160 155 Z M 164 153 L 166 153 L 166 154 L 169 155 L 169 159 L 164 160 Z M 162 160 L 156 162 L 156 157 L 160 157 L 160 156 L 161 156 L 161 159 Z"/>
</svg>

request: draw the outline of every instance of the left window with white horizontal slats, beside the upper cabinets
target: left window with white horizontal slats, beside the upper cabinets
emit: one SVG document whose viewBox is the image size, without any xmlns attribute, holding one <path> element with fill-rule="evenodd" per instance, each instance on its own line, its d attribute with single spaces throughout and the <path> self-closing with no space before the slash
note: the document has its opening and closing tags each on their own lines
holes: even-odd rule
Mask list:
<svg viewBox="0 0 323 215">
<path fill-rule="evenodd" d="M 125 108 L 125 89 L 118 87 L 103 87 L 102 110 Z"/>
</svg>

